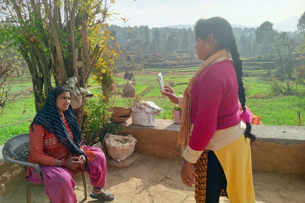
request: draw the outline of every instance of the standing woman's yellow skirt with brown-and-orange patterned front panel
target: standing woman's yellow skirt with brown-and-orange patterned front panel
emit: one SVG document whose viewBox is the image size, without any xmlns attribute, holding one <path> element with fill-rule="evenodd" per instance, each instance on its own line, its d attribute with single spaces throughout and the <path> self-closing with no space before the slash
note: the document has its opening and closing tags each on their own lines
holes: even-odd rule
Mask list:
<svg viewBox="0 0 305 203">
<path fill-rule="evenodd" d="M 198 185 L 195 186 L 196 202 L 205 202 L 206 194 L 206 169 L 207 152 L 203 154 L 195 164 L 195 171 L 198 173 Z M 217 159 L 221 163 L 227 179 L 227 194 L 231 203 L 255 203 L 253 176 L 251 164 L 250 140 L 242 135 L 240 138 L 214 151 Z"/>
</svg>

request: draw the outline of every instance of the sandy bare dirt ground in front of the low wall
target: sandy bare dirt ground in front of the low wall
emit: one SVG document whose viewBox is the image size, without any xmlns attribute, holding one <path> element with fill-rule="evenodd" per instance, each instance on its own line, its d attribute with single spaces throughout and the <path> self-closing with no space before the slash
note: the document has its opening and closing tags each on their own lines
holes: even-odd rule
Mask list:
<svg viewBox="0 0 305 203">
<path fill-rule="evenodd" d="M 194 191 L 182 184 L 180 169 L 182 161 L 178 158 L 159 159 L 140 154 L 136 163 L 125 169 L 108 167 L 107 183 L 105 190 L 115 195 L 113 203 L 188 203 L 195 202 Z M 20 172 L 23 176 L 24 171 Z M 173 180 L 165 179 L 170 176 Z M 305 180 L 300 177 L 284 176 L 279 174 L 256 172 L 253 174 L 254 189 L 257 203 L 304 203 Z M 19 177 L 18 177 L 19 178 Z M 75 177 L 74 188 L 80 202 L 94 203 L 89 197 L 92 190 L 87 174 L 88 199 L 84 198 L 84 188 L 81 176 Z M 2 185 L 3 186 L 3 185 Z M 20 180 L 17 184 L 6 184 L 0 190 L 1 203 L 26 202 L 27 182 Z M 34 187 L 32 203 L 47 203 L 43 187 Z M 228 203 L 226 198 L 221 198 L 221 203 Z"/>
</svg>

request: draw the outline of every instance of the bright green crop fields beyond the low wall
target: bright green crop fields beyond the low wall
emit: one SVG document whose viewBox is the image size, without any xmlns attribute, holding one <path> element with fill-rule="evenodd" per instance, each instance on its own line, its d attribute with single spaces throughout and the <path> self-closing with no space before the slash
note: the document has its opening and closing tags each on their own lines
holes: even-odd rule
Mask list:
<svg viewBox="0 0 305 203">
<path fill-rule="evenodd" d="M 259 64 L 259 63 L 258 63 Z M 197 70 L 196 65 L 177 66 L 168 68 L 149 68 L 134 72 L 135 89 L 138 94 L 141 94 L 141 99 L 153 101 L 159 107 L 163 108 L 163 112 L 157 118 L 169 118 L 172 112 L 173 104 L 168 98 L 162 98 L 160 93 L 159 82 L 156 77 L 156 72 L 169 73 L 163 75 L 166 85 L 174 84 L 173 89 L 177 95 L 182 95 L 189 79 L 192 78 Z M 198 67 L 198 66 L 197 66 Z M 275 70 L 271 70 L 274 72 Z M 181 74 L 180 72 L 185 72 Z M 251 93 L 247 99 L 246 105 L 250 107 L 253 113 L 261 116 L 261 122 L 267 125 L 297 125 L 297 112 L 305 112 L 305 97 L 304 96 L 270 96 L 272 80 L 268 77 L 269 70 L 254 70 L 250 71 L 251 77 L 244 77 L 244 86 L 248 87 Z M 145 75 L 144 75 L 145 73 Z M 142 75 L 137 75 L 142 74 Z M 127 81 L 116 77 L 115 84 L 125 84 Z M 282 83 L 278 81 L 279 83 Z M 101 94 L 98 84 L 90 78 L 88 88 L 92 88 L 93 94 Z M 8 86 L 12 92 L 19 92 L 24 89 L 31 89 L 32 83 L 28 74 L 18 78 L 18 81 L 10 83 Z M 7 87 L 7 88 L 8 88 Z M 304 90 L 304 86 L 299 87 Z M 122 90 L 122 88 L 121 88 Z M 93 98 L 94 99 L 94 98 Z M 121 98 L 116 95 L 115 106 L 130 107 L 131 102 L 128 99 Z M 36 114 L 34 98 L 28 98 L 19 101 L 18 103 L 9 105 L 0 119 L 0 144 L 20 133 L 26 133 L 29 130 L 29 125 Z"/>
</svg>

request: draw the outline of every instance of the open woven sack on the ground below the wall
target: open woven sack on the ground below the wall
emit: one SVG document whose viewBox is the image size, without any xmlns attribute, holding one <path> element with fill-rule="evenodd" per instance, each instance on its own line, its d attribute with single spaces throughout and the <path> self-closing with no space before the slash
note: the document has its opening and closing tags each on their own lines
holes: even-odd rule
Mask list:
<svg viewBox="0 0 305 203">
<path fill-rule="evenodd" d="M 121 162 L 132 155 L 137 140 L 132 135 L 122 136 L 109 134 L 105 142 L 109 156 Z"/>
</svg>

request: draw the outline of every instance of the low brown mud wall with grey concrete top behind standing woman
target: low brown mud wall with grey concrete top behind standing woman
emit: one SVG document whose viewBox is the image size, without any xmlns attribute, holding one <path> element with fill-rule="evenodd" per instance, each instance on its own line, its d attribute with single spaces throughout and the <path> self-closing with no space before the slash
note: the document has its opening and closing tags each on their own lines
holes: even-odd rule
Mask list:
<svg viewBox="0 0 305 203">
<path fill-rule="evenodd" d="M 179 126 L 156 119 L 156 127 L 136 126 L 131 119 L 120 124 L 122 134 L 133 135 L 136 149 L 156 157 L 181 157 L 177 146 Z M 253 125 L 257 136 L 252 147 L 253 170 L 305 175 L 305 127 Z"/>
</svg>

